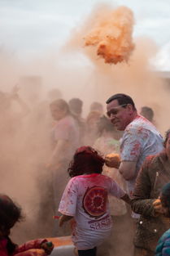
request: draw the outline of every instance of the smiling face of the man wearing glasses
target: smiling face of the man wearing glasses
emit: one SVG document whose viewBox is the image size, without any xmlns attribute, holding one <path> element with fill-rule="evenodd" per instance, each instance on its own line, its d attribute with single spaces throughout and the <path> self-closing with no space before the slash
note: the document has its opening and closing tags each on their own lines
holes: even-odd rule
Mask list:
<svg viewBox="0 0 170 256">
<path fill-rule="evenodd" d="M 111 123 L 119 131 L 124 131 L 126 126 L 131 122 L 131 115 L 133 113 L 132 105 L 127 104 L 124 106 L 119 105 L 117 100 L 107 104 L 107 115 L 110 118 Z"/>
</svg>

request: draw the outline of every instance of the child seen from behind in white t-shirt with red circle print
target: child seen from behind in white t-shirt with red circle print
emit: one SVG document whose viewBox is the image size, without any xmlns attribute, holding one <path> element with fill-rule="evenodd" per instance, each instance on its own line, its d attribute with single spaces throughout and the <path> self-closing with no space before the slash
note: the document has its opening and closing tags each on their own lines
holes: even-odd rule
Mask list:
<svg viewBox="0 0 170 256">
<path fill-rule="evenodd" d="M 68 168 L 71 180 L 59 204 L 59 226 L 75 219 L 72 241 L 79 256 L 95 256 L 97 246 L 111 233 L 108 194 L 129 203 L 129 196 L 110 177 L 102 175 L 104 159 L 90 146 L 76 150 Z"/>
</svg>

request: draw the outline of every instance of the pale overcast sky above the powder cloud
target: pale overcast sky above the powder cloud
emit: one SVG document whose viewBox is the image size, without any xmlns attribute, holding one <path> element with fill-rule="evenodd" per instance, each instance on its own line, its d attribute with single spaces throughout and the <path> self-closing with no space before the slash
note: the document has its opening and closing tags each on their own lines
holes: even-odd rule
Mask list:
<svg viewBox="0 0 170 256">
<path fill-rule="evenodd" d="M 0 0 L 0 45 L 20 57 L 62 46 L 100 2 L 130 7 L 136 20 L 133 36 L 153 39 L 160 47 L 160 65 L 170 70 L 170 0 Z"/>
</svg>

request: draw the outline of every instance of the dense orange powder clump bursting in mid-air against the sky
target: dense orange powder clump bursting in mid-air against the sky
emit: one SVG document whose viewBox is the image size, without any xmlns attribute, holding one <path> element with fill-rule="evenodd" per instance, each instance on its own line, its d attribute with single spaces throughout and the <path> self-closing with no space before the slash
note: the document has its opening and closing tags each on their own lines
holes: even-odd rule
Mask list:
<svg viewBox="0 0 170 256">
<path fill-rule="evenodd" d="M 85 36 L 85 46 L 97 48 L 97 55 L 105 63 L 117 64 L 129 61 L 133 52 L 133 12 L 128 7 L 114 11 L 101 11 L 94 19 L 94 25 Z"/>
</svg>

